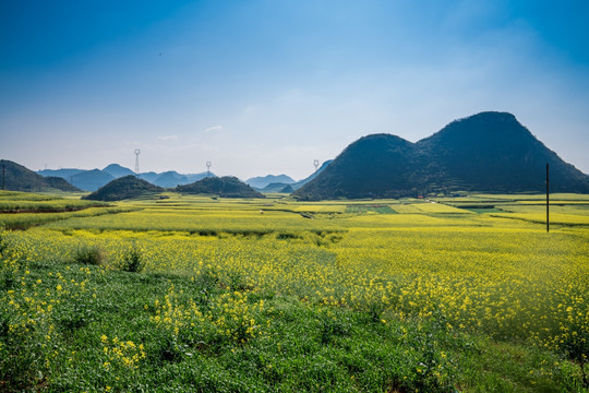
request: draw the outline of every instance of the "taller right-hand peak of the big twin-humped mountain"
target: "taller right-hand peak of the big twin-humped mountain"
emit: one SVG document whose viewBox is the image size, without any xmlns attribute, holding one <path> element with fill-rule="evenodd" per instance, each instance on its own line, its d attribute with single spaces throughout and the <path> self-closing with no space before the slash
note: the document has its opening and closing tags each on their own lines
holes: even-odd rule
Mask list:
<svg viewBox="0 0 589 393">
<path fill-rule="evenodd" d="M 430 157 L 428 171 L 440 184 L 544 191 L 548 163 L 552 192 L 589 192 L 589 177 L 562 160 L 512 114 L 482 112 L 456 120 L 417 145 Z"/>
</svg>

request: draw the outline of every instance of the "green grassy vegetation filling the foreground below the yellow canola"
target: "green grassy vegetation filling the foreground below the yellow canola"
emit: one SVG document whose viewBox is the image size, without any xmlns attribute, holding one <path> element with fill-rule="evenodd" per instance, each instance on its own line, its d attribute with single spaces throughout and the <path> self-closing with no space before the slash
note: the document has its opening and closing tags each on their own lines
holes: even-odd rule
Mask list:
<svg viewBox="0 0 589 393">
<path fill-rule="evenodd" d="M 176 294 L 170 301 L 177 308 L 196 299 L 199 310 L 207 312 L 225 301 L 223 296 L 235 296 L 229 283 L 81 264 L 31 263 L 27 271 L 17 278 L 17 286 L 50 302 L 51 297 L 41 294 L 56 293 L 61 285 L 59 300 L 64 305 L 40 319 L 28 336 L 23 332 L 34 325 L 22 320 L 24 326 L 9 334 L 5 325 L 17 322 L 17 315 L 2 315 L 3 391 L 576 389 L 577 370 L 560 357 L 524 344 L 497 344 L 484 335 L 448 331 L 444 319 L 400 321 L 385 312 L 374 320 L 368 312 L 345 307 L 241 289 L 250 305 L 265 302 L 263 310 L 249 317 L 256 320 L 260 333 L 241 343 L 205 325 L 175 332 L 152 322 L 155 302 L 170 288 Z M 41 284 L 35 284 L 38 279 Z M 67 294 L 72 283 L 85 283 L 86 290 Z M 239 331 L 239 322 L 231 329 Z M 48 326 L 51 340 L 45 337 Z M 136 368 L 125 367 L 125 361 L 141 352 L 129 346 L 121 349 L 115 344 L 120 342 L 143 345 L 144 356 L 139 356 Z"/>
</svg>

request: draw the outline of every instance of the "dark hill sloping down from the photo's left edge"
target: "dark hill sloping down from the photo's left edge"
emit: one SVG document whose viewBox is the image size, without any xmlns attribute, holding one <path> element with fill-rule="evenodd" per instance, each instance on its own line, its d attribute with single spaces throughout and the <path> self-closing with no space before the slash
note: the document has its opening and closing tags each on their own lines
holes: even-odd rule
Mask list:
<svg viewBox="0 0 589 393">
<path fill-rule="evenodd" d="M 0 188 L 11 191 L 81 191 L 59 177 L 43 177 L 24 166 L 0 159 Z"/>
</svg>

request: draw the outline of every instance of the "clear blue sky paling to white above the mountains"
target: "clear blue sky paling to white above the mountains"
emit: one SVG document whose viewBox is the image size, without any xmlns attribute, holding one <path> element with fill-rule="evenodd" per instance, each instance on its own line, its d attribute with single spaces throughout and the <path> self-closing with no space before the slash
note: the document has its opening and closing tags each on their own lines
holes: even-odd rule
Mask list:
<svg viewBox="0 0 589 393">
<path fill-rule="evenodd" d="M 589 172 L 588 1 L 0 0 L 0 157 L 313 171 L 386 132 L 514 114 Z"/>
</svg>

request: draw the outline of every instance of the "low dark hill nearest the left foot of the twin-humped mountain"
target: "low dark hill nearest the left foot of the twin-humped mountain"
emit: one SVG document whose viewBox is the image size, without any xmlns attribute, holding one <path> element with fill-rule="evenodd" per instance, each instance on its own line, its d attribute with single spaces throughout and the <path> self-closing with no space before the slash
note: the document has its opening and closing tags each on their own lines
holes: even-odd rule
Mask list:
<svg viewBox="0 0 589 393">
<path fill-rule="evenodd" d="M 176 191 L 192 194 L 214 194 L 224 198 L 265 198 L 232 176 L 204 178 L 190 184 L 178 186 Z"/>
</svg>

